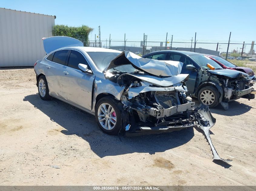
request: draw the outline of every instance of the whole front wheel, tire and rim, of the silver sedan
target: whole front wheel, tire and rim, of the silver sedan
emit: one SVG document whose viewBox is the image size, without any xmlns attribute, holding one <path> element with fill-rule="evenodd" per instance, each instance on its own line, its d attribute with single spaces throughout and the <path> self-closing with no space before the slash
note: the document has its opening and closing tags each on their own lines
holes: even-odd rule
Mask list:
<svg viewBox="0 0 256 191">
<path fill-rule="evenodd" d="M 117 135 L 121 129 L 121 111 L 123 104 L 111 96 L 101 98 L 95 107 L 95 119 L 100 129 L 109 134 Z"/>
</svg>

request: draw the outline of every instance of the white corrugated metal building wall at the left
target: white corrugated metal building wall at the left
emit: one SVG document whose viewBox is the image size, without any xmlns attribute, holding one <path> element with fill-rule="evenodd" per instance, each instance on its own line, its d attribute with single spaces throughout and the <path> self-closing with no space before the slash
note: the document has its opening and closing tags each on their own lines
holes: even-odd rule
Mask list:
<svg viewBox="0 0 256 191">
<path fill-rule="evenodd" d="M 0 8 L 0 67 L 33 66 L 46 53 L 55 16 Z"/>
</svg>

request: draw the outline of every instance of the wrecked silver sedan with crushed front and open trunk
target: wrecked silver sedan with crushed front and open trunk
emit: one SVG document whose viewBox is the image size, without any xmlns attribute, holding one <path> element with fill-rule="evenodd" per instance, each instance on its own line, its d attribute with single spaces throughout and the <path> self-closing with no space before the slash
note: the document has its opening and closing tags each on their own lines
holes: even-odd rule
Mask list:
<svg viewBox="0 0 256 191">
<path fill-rule="evenodd" d="M 101 130 L 111 135 L 135 136 L 197 127 L 207 138 L 213 158 L 230 161 L 221 159 L 212 145 L 209 129 L 215 119 L 208 106 L 194 108 L 195 103 L 186 95 L 189 75 L 180 74 L 181 62 L 74 46 L 80 41 L 70 37 L 43 41 L 47 55 L 34 67 L 43 100 L 55 97 L 95 115 Z M 69 43 L 73 46 L 69 47 Z"/>
</svg>

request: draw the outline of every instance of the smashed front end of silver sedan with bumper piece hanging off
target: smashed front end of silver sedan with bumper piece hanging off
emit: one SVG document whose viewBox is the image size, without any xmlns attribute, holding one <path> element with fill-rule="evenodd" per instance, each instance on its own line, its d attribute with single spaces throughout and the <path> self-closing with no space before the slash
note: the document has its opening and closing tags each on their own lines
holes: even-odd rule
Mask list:
<svg viewBox="0 0 256 191">
<path fill-rule="evenodd" d="M 144 91 L 145 87 L 147 91 Z M 141 90 L 139 93 L 138 89 Z M 209 107 L 201 104 L 194 108 L 195 103 L 186 92 L 187 88 L 182 82 L 165 88 L 154 87 L 138 79 L 131 80 L 121 97 L 124 104 L 121 132 L 126 136 L 138 136 L 196 127 L 202 129 L 213 159 L 231 161 L 221 159 L 211 142 L 209 129 L 214 126 L 216 119 Z"/>
</svg>

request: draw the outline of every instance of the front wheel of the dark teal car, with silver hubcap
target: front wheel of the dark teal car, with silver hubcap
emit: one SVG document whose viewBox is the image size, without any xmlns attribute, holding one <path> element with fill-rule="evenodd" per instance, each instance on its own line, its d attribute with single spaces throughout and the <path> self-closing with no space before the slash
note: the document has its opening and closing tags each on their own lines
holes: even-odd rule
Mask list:
<svg viewBox="0 0 256 191">
<path fill-rule="evenodd" d="M 198 92 L 198 100 L 209 108 L 216 107 L 220 101 L 219 91 L 211 86 L 203 87 Z"/>
</svg>

